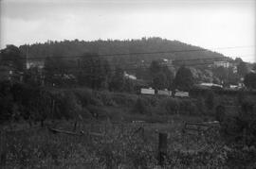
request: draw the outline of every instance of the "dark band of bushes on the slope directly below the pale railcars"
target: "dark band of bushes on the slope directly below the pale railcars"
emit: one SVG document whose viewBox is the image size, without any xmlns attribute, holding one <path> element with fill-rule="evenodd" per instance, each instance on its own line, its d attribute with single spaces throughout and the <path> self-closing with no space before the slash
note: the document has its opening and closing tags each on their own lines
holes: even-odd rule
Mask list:
<svg viewBox="0 0 256 169">
<path fill-rule="evenodd" d="M 87 88 L 46 89 L 20 83 L 1 83 L 1 122 L 77 119 L 80 116 L 97 117 L 101 110 L 116 108 L 127 111 L 123 116 L 160 114 L 197 114 L 201 105 L 194 99 L 136 95 L 131 93 L 110 93 Z M 136 114 L 135 114 L 135 113 Z M 83 114 L 85 113 L 85 114 Z M 107 118 L 109 113 L 101 117 Z M 113 116 L 112 116 L 113 117 Z"/>
</svg>

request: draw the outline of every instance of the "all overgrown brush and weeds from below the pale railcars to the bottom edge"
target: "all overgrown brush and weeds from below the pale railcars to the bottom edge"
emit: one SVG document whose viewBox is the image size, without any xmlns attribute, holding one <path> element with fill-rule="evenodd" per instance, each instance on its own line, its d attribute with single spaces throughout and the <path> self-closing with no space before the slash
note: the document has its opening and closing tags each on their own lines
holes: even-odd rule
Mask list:
<svg viewBox="0 0 256 169">
<path fill-rule="evenodd" d="M 158 142 L 155 131 L 169 133 L 167 168 L 256 166 L 255 103 L 247 102 L 253 99 L 243 93 L 233 99 L 215 93 L 207 93 L 206 98 L 177 98 L 87 88 L 35 88 L 8 82 L 0 87 L 2 124 L 23 126 L 23 121 L 29 125 L 39 121 L 49 126 L 54 120 L 60 124 L 57 128 L 66 131 L 74 130 L 73 122 L 80 124 L 75 128 L 79 129 L 78 136 L 50 133 L 46 127 L 11 132 L 2 129 L 1 162 L 5 166 L 154 168 Z M 228 102 L 241 104 L 235 109 L 237 113 L 229 107 L 223 109 L 221 104 Z M 221 123 L 220 135 L 181 132 L 183 121 L 213 120 L 214 111 Z M 133 120 L 146 123 L 132 124 Z M 99 127 L 94 127 L 95 122 Z M 93 137 L 88 132 L 102 136 Z"/>
</svg>

